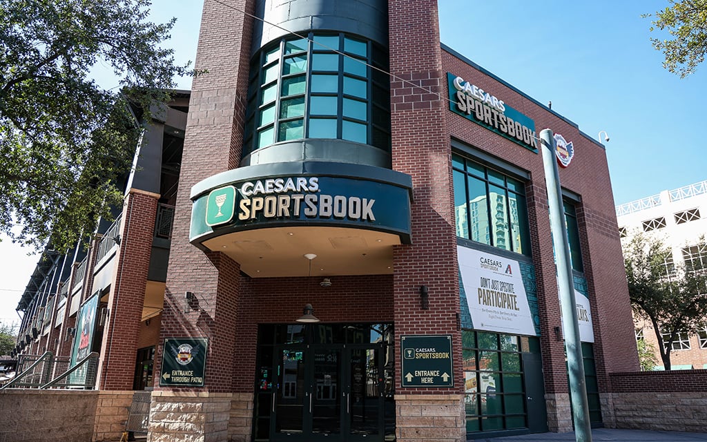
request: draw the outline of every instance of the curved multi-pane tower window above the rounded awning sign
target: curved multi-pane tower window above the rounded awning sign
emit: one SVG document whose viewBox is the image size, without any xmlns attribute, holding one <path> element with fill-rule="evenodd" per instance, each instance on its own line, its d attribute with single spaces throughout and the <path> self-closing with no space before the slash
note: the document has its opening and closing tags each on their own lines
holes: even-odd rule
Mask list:
<svg viewBox="0 0 707 442">
<path fill-rule="evenodd" d="M 390 150 L 387 53 L 346 34 L 310 33 L 251 66 L 243 155 L 279 141 L 345 139 Z"/>
</svg>

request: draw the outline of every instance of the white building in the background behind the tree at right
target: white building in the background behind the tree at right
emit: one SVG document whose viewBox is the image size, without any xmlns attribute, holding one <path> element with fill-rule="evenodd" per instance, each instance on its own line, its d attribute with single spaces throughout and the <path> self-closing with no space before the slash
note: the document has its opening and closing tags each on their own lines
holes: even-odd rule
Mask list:
<svg viewBox="0 0 707 442">
<path fill-rule="evenodd" d="M 673 264 L 684 264 L 689 269 L 693 263 L 707 263 L 707 247 L 700 245 L 700 238 L 707 238 L 707 180 L 621 204 L 617 206 L 617 221 L 624 245 L 636 232 L 658 235 L 670 245 L 672 262 L 666 262 L 667 271 Z M 636 337 L 653 344 L 660 361 L 653 327 L 638 323 Z M 686 330 L 673 342 L 671 362 L 674 370 L 707 368 L 707 325 Z M 662 369 L 662 365 L 656 369 Z"/>
</svg>

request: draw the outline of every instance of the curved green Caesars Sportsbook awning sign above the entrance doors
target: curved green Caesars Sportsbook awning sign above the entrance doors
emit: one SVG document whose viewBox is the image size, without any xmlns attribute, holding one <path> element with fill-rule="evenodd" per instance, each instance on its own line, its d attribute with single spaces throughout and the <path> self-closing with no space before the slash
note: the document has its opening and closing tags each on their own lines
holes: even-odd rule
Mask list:
<svg viewBox="0 0 707 442">
<path fill-rule="evenodd" d="M 367 165 L 292 162 L 214 175 L 192 188 L 192 243 L 281 226 L 363 228 L 410 241 L 411 178 Z"/>
</svg>

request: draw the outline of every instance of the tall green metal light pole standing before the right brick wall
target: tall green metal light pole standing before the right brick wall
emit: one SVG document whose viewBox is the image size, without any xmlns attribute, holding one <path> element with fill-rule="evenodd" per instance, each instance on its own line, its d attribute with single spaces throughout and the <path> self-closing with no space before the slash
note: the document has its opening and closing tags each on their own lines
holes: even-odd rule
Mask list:
<svg viewBox="0 0 707 442">
<path fill-rule="evenodd" d="M 540 144 L 542 145 L 542 163 L 545 169 L 552 243 L 557 262 L 557 289 L 560 296 L 562 329 L 567 351 L 575 439 L 577 442 L 591 442 L 592 429 L 589 418 L 587 385 L 584 378 L 582 342 L 579 336 L 579 322 L 577 319 L 577 301 L 575 300 L 572 281 L 570 246 L 567 242 L 567 224 L 562 209 L 560 175 L 555 157 L 556 142 L 550 129 L 543 129 L 540 132 Z"/>
</svg>

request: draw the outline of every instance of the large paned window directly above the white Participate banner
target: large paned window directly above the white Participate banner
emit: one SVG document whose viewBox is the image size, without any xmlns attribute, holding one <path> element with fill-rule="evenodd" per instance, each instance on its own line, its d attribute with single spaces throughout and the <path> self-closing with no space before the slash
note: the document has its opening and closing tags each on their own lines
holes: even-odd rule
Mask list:
<svg viewBox="0 0 707 442">
<path fill-rule="evenodd" d="M 457 236 L 530 255 L 525 184 L 452 156 Z"/>
</svg>

